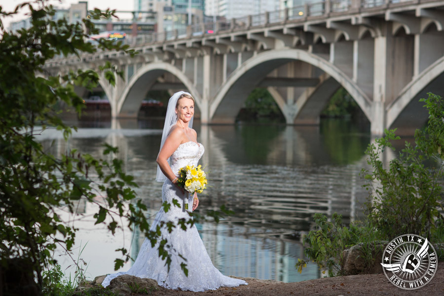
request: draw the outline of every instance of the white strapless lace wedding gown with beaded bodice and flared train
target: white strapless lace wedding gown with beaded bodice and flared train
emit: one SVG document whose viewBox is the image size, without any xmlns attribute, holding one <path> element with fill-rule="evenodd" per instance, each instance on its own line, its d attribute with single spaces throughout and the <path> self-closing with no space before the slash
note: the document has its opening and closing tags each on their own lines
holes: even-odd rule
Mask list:
<svg viewBox="0 0 444 296">
<path fill-rule="evenodd" d="M 204 147 L 202 144 L 195 142 L 183 143 L 171 155 L 171 169 L 173 172 L 178 172 L 181 167 L 188 164 L 196 166 L 203 153 Z M 161 221 L 177 222 L 180 218 L 188 220 L 190 217 L 186 213 L 185 204 L 188 205 L 188 211 L 191 211 L 193 199 L 191 194 L 186 194 L 186 196 L 185 198 L 176 185 L 167 179 L 162 186 L 162 202 L 167 201 L 172 206 L 167 213 L 165 213 L 163 208 L 160 209 L 151 225 L 151 230 L 155 230 Z M 181 208 L 173 205 L 173 198 L 180 202 Z M 159 243 L 152 248 L 150 241 L 145 239 L 133 266 L 127 272 L 108 275 L 102 285 L 104 287 L 108 286 L 113 278 L 122 274 L 151 278 L 156 280 L 160 286 L 168 289 L 182 289 L 194 292 L 216 290 L 219 287 L 247 285 L 243 280 L 224 276 L 214 267 L 195 225 L 188 226 L 186 231 L 178 226 L 173 228 L 171 233 L 168 233 L 168 230 L 162 227 L 161 238 L 158 239 L 158 242 L 162 238 L 166 238 L 168 244 L 171 244 L 175 250 L 172 254 L 169 272 L 168 267 L 165 265 L 165 260 L 160 259 L 158 255 L 157 247 Z M 185 263 L 188 269 L 188 276 L 185 276 L 181 268 L 181 263 L 184 260 L 177 254 L 181 254 L 186 258 Z"/>
</svg>

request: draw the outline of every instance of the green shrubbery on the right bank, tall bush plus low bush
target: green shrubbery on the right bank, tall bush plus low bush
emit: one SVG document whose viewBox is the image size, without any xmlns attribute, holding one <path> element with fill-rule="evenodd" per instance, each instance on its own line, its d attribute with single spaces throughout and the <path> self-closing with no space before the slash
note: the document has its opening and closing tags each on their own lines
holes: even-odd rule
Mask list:
<svg viewBox="0 0 444 296">
<path fill-rule="evenodd" d="M 330 276 L 343 273 L 342 252 L 351 245 L 363 243 L 361 256 L 370 267 L 374 266 L 374 254 L 378 252 L 376 240 L 390 241 L 398 235 L 413 233 L 430 241 L 443 241 L 444 218 L 440 210 L 444 206 L 444 102 L 432 93 L 420 102 L 425 102 L 429 120 L 423 130 L 416 130 L 414 146 L 406 141 L 399 156 L 385 164 L 382 153 L 394 149 L 392 141 L 400 140 L 396 130 L 385 130 L 385 136 L 375 139 L 366 150 L 371 169 L 362 170 L 368 181 L 364 187 L 370 196 L 364 222 L 343 227 L 336 214 L 332 222 L 315 214 L 316 230 L 303 236 L 308 245 L 305 255 L 320 268 L 328 269 Z M 441 252 L 439 256 L 443 256 Z M 306 264 L 306 260 L 298 259 L 299 272 Z"/>
</svg>

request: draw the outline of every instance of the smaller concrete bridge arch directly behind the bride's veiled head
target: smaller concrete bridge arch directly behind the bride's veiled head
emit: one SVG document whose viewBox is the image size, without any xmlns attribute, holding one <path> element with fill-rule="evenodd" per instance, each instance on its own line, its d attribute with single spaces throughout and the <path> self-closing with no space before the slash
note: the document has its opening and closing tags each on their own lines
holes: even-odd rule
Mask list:
<svg viewBox="0 0 444 296">
<path fill-rule="evenodd" d="M 118 117 L 136 117 L 147 91 L 157 78 L 166 72 L 173 74 L 184 83 L 185 88 L 194 97 L 197 107 L 202 110 L 202 99 L 191 80 L 173 65 L 160 62 L 144 65 L 131 77 L 116 104 L 116 115 Z"/>
</svg>

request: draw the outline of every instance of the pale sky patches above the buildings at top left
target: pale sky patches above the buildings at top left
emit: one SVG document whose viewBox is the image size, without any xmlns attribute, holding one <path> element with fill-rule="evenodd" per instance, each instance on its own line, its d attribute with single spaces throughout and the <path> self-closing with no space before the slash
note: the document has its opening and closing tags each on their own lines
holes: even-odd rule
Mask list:
<svg viewBox="0 0 444 296">
<path fill-rule="evenodd" d="M 13 11 L 15 7 L 25 2 L 26 0 L 0 0 L 0 6 L 1 10 L 3 11 Z M 78 3 L 79 0 L 50 0 L 49 3 L 51 3 L 54 6 L 57 7 L 69 7 L 72 3 Z M 100 8 L 102 10 L 105 10 L 107 8 L 116 9 L 116 10 L 123 10 L 123 11 L 131 11 L 134 9 L 134 1 L 133 0 L 87 0 L 88 2 L 88 10 L 92 10 L 94 8 Z M 2 17 L 2 22 L 5 28 L 9 27 L 10 22 L 19 21 L 21 19 L 26 18 L 24 9 L 23 13 L 20 13 L 18 15 L 14 15 L 13 17 Z"/>
</svg>

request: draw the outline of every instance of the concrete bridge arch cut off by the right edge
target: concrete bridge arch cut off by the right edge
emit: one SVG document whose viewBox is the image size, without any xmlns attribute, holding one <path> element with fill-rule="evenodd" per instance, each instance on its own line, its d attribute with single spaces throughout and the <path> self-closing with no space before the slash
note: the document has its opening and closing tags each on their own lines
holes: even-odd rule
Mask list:
<svg viewBox="0 0 444 296">
<path fill-rule="evenodd" d="M 426 98 L 428 92 L 443 96 L 442 81 L 444 80 L 444 57 L 424 69 L 410 83 L 404 87 L 397 99 L 386 108 L 386 122 L 388 128 L 398 126 L 410 127 L 410 134 L 420 124 L 426 122 L 428 112 L 423 108 L 420 98 Z M 412 120 L 412 117 L 414 120 Z"/>
</svg>

